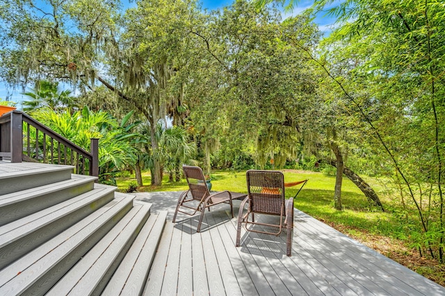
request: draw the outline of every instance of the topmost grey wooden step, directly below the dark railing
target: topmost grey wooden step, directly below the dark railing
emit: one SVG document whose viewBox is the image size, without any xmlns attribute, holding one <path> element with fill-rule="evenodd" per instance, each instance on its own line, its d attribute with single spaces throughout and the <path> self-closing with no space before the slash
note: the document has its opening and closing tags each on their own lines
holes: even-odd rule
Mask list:
<svg viewBox="0 0 445 296">
<path fill-rule="evenodd" d="M 69 180 L 72 166 L 30 162 L 0 163 L 0 195 Z"/>
</svg>

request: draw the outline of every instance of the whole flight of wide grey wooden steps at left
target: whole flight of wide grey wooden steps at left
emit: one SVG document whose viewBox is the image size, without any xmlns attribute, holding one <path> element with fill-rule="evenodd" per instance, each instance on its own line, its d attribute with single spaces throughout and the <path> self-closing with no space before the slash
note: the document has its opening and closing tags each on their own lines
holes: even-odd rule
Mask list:
<svg viewBox="0 0 445 296">
<path fill-rule="evenodd" d="M 0 295 L 140 295 L 166 212 L 72 174 L 0 162 Z"/>
</svg>

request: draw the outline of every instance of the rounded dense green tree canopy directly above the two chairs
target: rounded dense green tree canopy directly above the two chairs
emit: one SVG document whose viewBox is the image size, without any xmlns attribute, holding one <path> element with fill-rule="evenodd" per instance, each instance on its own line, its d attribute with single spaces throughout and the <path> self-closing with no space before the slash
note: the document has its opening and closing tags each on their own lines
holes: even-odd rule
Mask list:
<svg viewBox="0 0 445 296">
<path fill-rule="evenodd" d="M 300 146 L 302 106 L 314 94 L 316 79 L 304 52 L 282 42 L 283 31 L 316 44 L 307 19 L 282 24 L 277 10 L 257 10 L 235 1 L 194 28 L 206 51 L 188 90 L 191 123 L 206 143 L 223 139 L 226 156 L 251 153 L 257 164 L 282 166 Z M 209 149 L 209 147 L 207 147 Z"/>
</svg>

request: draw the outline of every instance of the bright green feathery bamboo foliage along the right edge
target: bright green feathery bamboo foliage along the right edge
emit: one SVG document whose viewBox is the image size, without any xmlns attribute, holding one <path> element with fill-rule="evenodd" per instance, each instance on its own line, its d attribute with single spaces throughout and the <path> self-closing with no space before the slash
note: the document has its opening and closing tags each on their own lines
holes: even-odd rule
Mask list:
<svg viewBox="0 0 445 296">
<path fill-rule="evenodd" d="M 344 1 L 330 12 L 342 26 L 325 40 L 323 67 L 351 104 L 364 151 L 398 184 L 413 243 L 443 261 L 444 6 Z"/>
</svg>

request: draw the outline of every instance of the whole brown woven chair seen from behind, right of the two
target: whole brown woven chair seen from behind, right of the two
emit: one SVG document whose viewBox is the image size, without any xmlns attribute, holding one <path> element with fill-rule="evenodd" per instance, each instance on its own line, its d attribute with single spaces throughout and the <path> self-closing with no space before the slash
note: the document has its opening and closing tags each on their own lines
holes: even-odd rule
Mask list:
<svg viewBox="0 0 445 296">
<path fill-rule="evenodd" d="M 293 236 L 293 198 L 284 198 L 284 175 L 280 171 L 250 170 L 246 173 L 248 184 L 248 196 L 241 202 L 238 214 L 238 228 L 236 231 L 236 247 L 241 240 L 241 225 L 245 223 L 245 229 L 250 232 L 280 235 L 282 228 L 286 227 L 286 254 L 291 256 Z M 248 211 L 243 215 L 246 202 Z M 280 216 L 279 224 L 255 222 L 254 214 L 266 214 Z M 251 216 L 251 220 L 249 220 Z M 284 220 L 284 221 L 283 221 Z M 248 228 L 248 224 L 257 225 Z M 268 232 L 264 228 L 272 227 L 276 232 Z"/>
</svg>

